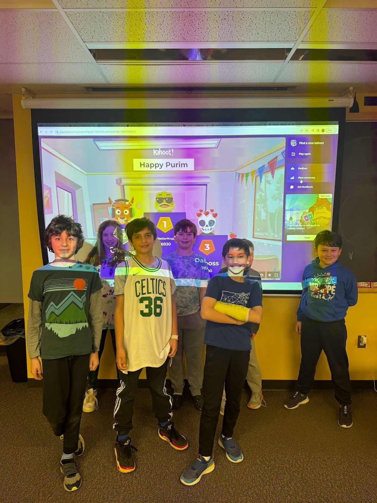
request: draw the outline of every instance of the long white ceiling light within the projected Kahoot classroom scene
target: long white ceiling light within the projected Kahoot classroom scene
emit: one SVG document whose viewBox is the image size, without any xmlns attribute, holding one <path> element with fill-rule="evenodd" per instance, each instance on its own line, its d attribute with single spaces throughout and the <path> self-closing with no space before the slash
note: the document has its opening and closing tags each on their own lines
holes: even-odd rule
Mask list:
<svg viewBox="0 0 377 503">
<path fill-rule="evenodd" d="M 93 140 L 100 150 L 147 150 L 151 148 L 216 148 L 218 139 Z"/>
</svg>

